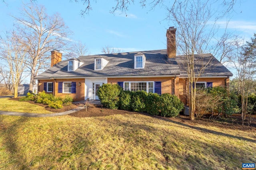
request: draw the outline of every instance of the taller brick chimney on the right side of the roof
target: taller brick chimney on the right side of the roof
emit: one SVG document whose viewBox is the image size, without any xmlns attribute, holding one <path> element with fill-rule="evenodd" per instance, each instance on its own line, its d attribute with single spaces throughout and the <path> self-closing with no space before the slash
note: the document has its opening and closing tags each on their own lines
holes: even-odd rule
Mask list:
<svg viewBox="0 0 256 170">
<path fill-rule="evenodd" d="M 168 58 L 176 58 L 176 28 L 169 27 L 166 31 L 167 37 L 167 56 Z"/>
</svg>

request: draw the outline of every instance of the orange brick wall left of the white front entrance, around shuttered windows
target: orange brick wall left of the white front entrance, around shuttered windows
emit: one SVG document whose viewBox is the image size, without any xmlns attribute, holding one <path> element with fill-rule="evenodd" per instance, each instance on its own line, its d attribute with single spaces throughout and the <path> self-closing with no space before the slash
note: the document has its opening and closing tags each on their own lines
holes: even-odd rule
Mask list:
<svg viewBox="0 0 256 170">
<path fill-rule="evenodd" d="M 55 82 L 56 81 L 56 82 Z M 58 82 L 76 82 L 76 93 L 69 93 L 69 95 L 74 99 L 74 101 L 84 100 L 84 79 L 56 79 L 56 80 L 38 80 L 38 92 L 44 90 L 44 82 L 53 82 L 54 92 L 48 94 L 54 94 L 55 96 L 65 97 L 67 93 L 58 93 Z M 81 86 L 78 83 L 81 83 Z"/>
</svg>

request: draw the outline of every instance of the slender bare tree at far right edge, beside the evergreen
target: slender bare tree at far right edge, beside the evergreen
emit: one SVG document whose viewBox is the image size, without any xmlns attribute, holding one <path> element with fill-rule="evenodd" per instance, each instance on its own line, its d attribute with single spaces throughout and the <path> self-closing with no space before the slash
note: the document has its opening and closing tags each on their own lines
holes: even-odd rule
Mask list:
<svg viewBox="0 0 256 170">
<path fill-rule="evenodd" d="M 232 52 L 230 60 L 237 72 L 241 94 L 242 125 L 244 125 L 248 109 L 248 95 L 252 92 L 251 90 L 254 90 L 252 87 L 256 75 L 256 34 L 254 38 L 251 38 L 251 42 L 246 42 L 246 45 L 243 45 L 242 40 L 237 39 L 234 46 L 236 50 Z"/>
</svg>

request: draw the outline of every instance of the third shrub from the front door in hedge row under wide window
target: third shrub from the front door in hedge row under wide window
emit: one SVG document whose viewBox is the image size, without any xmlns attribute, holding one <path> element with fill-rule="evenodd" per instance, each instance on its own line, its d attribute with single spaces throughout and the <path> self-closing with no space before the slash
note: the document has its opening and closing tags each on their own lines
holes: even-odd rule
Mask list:
<svg viewBox="0 0 256 170">
<path fill-rule="evenodd" d="M 146 112 L 146 98 L 148 94 L 145 91 L 137 91 L 132 93 L 132 110 L 139 112 Z"/>
</svg>

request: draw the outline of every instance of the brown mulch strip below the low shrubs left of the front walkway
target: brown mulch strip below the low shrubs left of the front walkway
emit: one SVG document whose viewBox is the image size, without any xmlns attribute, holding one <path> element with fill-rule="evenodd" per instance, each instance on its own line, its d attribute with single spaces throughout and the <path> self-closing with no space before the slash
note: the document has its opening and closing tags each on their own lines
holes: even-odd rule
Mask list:
<svg viewBox="0 0 256 170">
<path fill-rule="evenodd" d="M 20 98 L 10 98 L 9 100 L 19 101 Z M 68 110 L 71 110 L 71 109 L 75 109 L 77 107 L 75 104 L 71 104 L 69 106 L 63 106 L 60 109 L 53 109 L 51 107 L 48 107 L 48 105 L 41 104 L 41 103 L 36 103 L 36 102 L 30 101 L 30 100 L 29 101 L 22 101 L 22 102 L 28 102 L 30 104 L 35 104 L 35 105 L 38 105 L 38 106 L 42 106 L 46 110 L 51 111 L 51 112 L 55 112 L 55 113 L 60 113 L 60 112 L 68 111 Z"/>
</svg>

